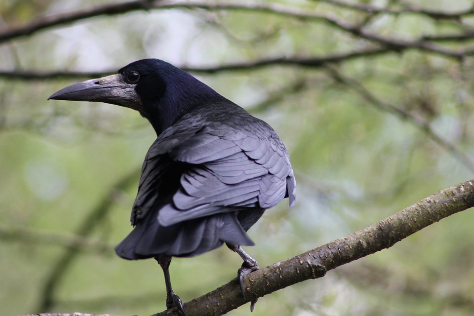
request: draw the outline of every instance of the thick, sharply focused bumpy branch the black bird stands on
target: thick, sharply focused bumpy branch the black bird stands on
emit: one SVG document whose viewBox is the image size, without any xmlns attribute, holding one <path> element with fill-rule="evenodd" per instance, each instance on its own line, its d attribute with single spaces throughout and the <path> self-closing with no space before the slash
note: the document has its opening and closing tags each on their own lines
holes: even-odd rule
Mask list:
<svg viewBox="0 0 474 316">
<path fill-rule="evenodd" d="M 184 304 L 189 316 L 223 315 L 237 307 L 295 283 L 322 277 L 349 262 L 380 250 L 457 212 L 474 206 L 474 180 L 439 191 L 421 201 L 346 237 L 249 274 L 245 297 L 237 279 Z M 154 316 L 179 316 L 177 309 Z M 32 315 L 30 315 L 32 316 Z M 84 314 L 39 314 L 38 316 L 91 316 Z"/>
</svg>

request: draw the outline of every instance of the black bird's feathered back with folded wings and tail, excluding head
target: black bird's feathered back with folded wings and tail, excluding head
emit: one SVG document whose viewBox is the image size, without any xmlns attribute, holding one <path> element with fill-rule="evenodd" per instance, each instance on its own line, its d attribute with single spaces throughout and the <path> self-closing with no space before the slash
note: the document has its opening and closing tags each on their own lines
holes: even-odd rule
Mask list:
<svg viewBox="0 0 474 316">
<path fill-rule="evenodd" d="M 202 104 L 165 129 L 145 158 L 119 256 L 194 256 L 223 242 L 253 245 L 246 231 L 295 180 L 275 131 L 230 101 Z"/>
</svg>

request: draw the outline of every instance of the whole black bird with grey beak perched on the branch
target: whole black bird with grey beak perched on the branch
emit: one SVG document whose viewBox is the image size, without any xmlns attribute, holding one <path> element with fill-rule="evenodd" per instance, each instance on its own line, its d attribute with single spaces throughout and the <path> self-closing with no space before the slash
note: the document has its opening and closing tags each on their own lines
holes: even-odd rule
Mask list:
<svg viewBox="0 0 474 316">
<path fill-rule="evenodd" d="M 70 85 L 49 99 L 131 108 L 157 132 L 132 208 L 134 229 L 115 250 L 125 259 L 158 261 L 166 307 L 185 314 L 171 288 L 171 257 L 195 256 L 224 242 L 244 261 L 237 273 L 243 295 L 244 277 L 258 269 L 240 248 L 254 245 L 246 231 L 283 198 L 295 204 L 293 170 L 274 129 L 158 59 L 139 60 L 118 75 Z"/>
</svg>

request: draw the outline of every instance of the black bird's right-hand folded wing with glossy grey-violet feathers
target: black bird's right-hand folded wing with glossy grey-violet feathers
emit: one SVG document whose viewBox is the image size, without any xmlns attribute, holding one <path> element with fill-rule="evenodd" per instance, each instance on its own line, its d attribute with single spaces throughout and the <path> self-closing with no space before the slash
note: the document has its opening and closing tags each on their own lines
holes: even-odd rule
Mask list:
<svg viewBox="0 0 474 316">
<path fill-rule="evenodd" d="M 186 139 L 176 130 L 158 141 L 156 153 L 162 155 L 166 148 L 172 160 L 189 166 L 172 201 L 158 212 L 161 225 L 242 207 L 266 209 L 287 196 L 294 204 L 293 170 L 284 145 L 263 121 L 251 130 L 212 124 L 195 128 Z M 184 140 L 177 143 L 177 138 Z"/>
</svg>

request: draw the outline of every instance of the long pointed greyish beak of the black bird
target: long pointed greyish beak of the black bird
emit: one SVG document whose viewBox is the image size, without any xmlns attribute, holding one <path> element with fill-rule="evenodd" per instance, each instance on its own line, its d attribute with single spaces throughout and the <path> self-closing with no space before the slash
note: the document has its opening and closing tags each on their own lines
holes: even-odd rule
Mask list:
<svg viewBox="0 0 474 316">
<path fill-rule="evenodd" d="M 138 110 L 140 98 L 135 92 L 135 85 L 126 83 L 121 75 L 112 75 L 98 79 L 81 81 L 67 86 L 48 100 L 93 101 L 105 102 Z"/>
</svg>

